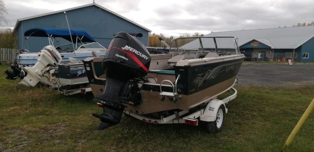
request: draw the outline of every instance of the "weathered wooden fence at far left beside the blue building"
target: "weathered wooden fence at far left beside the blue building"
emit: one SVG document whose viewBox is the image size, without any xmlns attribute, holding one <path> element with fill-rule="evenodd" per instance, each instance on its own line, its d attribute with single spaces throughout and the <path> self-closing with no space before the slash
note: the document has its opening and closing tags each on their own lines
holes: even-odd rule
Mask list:
<svg viewBox="0 0 314 152">
<path fill-rule="evenodd" d="M 18 57 L 19 50 L 13 48 L 0 48 L 0 63 L 14 64 Z"/>
</svg>

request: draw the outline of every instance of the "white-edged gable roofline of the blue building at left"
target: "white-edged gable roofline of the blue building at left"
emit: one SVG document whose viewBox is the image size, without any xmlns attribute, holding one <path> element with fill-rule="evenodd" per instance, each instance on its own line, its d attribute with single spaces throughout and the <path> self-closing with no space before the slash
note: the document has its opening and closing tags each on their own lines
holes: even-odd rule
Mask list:
<svg viewBox="0 0 314 152">
<path fill-rule="evenodd" d="M 78 9 L 78 8 L 84 8 L 84 7 L 88 7 L 88 6 L 96 6 L 96 7 L 99 7 L 99 8 L 101 8 L 101 9 L 103 9 L 103 10 L 105 10 L 105 11 L 111 13 L 111 14 L 114 14 L 114 15 L 116 15 L 116 16 L 118 16 L 118 17 L 120 17 L 120 18 L 122 18 L 122 19 L 124 19 L 124 20 L 126 20 L 126 21 L 128 21 L 128 22 L 130 22 L 130 23 L 132 23 L 132 24 L 134 24 L 134 25 L 137 25 L 138 27 L 141 27 L 141 28 L 145 29 L 146 31 L 151 32 L 151 30 L 149 30 L 148 28 L 146 28 L 146 27 L 144 27 L 144 26 L 142 26 L 142 25 L 139 25 L 139 24 L 135 23 L 134 21 L 129 20 L 129 19 L 127 19 L 127 18 L 125 18 L 125 17 L 123 17 L 123 16 L 121 16 L 121 15 L 119 15 L 119 14 L 117 14 L 117 13 L 115 13 L 115 12 L 109 10 L 109 9 L 107 9 L 107 8 L 104 8 L 104 7 L 102 7 L 102 6 L 98 5 L 98 4 L 96 4 L 96 3 L 90 3 L 90 4 L 78 6 L 78 7 L 73 7 L 73 8 L 68 8 L 68 9 L 63 9 L 63 10 L 54 11 L 54 12 L 50 12 L 50 13 L 44 13 L 44 14 L 39 14 L 39 15 L 35 15 L 35 16 L 30 16 L 30 17 L 25 17 L 25 18 L 18 19 L 18 20 L 16 21 L 15 26 L 14 26 L 14 31 L 19 27 L 19 25 L 21 24 L 21 21 L 23 21 L 23 20 L 29 20 L 29 19 L 33 19 L 33 18 L 37 18 L 37 17 L 42 17 L 42 16 L 46 16 L 46 15 L 51 15 L 51 14 L 57 14 L 57 13 L 61 13 L 61 12 L 64 12 L 64 11 L 70 11 L 70 10 L 74 10 L 74 9 Z"/>
</svg>

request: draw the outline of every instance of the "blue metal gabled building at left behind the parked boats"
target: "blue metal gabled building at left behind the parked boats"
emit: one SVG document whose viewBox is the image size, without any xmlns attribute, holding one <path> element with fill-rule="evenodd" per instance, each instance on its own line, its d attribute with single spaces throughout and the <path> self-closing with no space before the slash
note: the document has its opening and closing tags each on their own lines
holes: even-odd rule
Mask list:
<svg viewBox="0 0 314 152">
<path fill-rule="evenodd" d="M 67 29 L 68 26 L 63 13 L 64 11 L 67 13 L 71 29 L 86 31 L 106 48 L 109 46 L 114 34 L 120 31 L 142 33 L 143 37 L 139 38 L 139 40 L 143 42 L 145 46 L 148 46 L 148 36 L 149 32 L 151 32 L 148 28 L 96 3 L 91 3 L 79 7 L 18 19 L 14 27 L 14 31 L 18 37 L 18 48 L 37 52 L 44 46 L 49 45 L 46 37 L 30 37 L 25 41 L 24 32 L 35 27 Z M 65 43 L 69 42 L 60 42 L 60 44 Z"/>
</svg>

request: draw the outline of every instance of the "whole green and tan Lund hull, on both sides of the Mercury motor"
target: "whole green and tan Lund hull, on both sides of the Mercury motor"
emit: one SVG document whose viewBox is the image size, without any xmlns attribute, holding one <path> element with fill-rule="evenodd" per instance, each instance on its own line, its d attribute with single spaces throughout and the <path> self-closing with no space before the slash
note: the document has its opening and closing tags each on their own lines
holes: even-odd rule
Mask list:
<svg viewBox="0 0 314 152">
<path fill-rule="evenodd" d="M 144 83 L 141 87 L 142 103 L 138 106 L 125 104 L 125 110 L 137 114 L 150 114 L 167 110 L 189 110 L 199 104 L 229 90 L 235 83 L 243 62 L 243 55 L 236 55 L 226 59 L 194 59 L 179 61 L 172 69 L 174 73 L 160 73 L 150 70 L 147 77 L 154 78 L 155 83 Z M 153 59 L 152 59 L 153 60 Z M 105 74 L 101 67 L 102 58 L 87 58 L 84 60 L 90 87 L 94 95 L 100 95 L 105 88 Z M 88 65 L 86 67 L 86 65 Z M 154 65 L 154 64 L 151 64 Z M 181 66 L 178 66 L 181 65 Z M 155 67 L 158 69 L 158 67 Z M 180 98 L 173 101 L 170 98 L 160 98 L 160 82 L 170 80 L 175 82 Z M 162 84 L 162 91 L 172 92 L 170 83 Z"/>
</svg>

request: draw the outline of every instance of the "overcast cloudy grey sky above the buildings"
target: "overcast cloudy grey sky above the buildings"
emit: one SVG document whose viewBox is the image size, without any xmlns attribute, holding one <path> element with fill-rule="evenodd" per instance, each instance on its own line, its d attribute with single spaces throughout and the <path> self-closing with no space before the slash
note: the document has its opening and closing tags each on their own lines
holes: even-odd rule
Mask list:
<svg viewBox="0 0 314 152">
<path fill-rule="evenodd" d="M 93 0 L 4 0 L 9 26 L 19 18 L 72 8 Z M 314 20 L 313 0 L 95 0 L 154 33 L 230 31 L 292 26 Z"/>
</svg>

